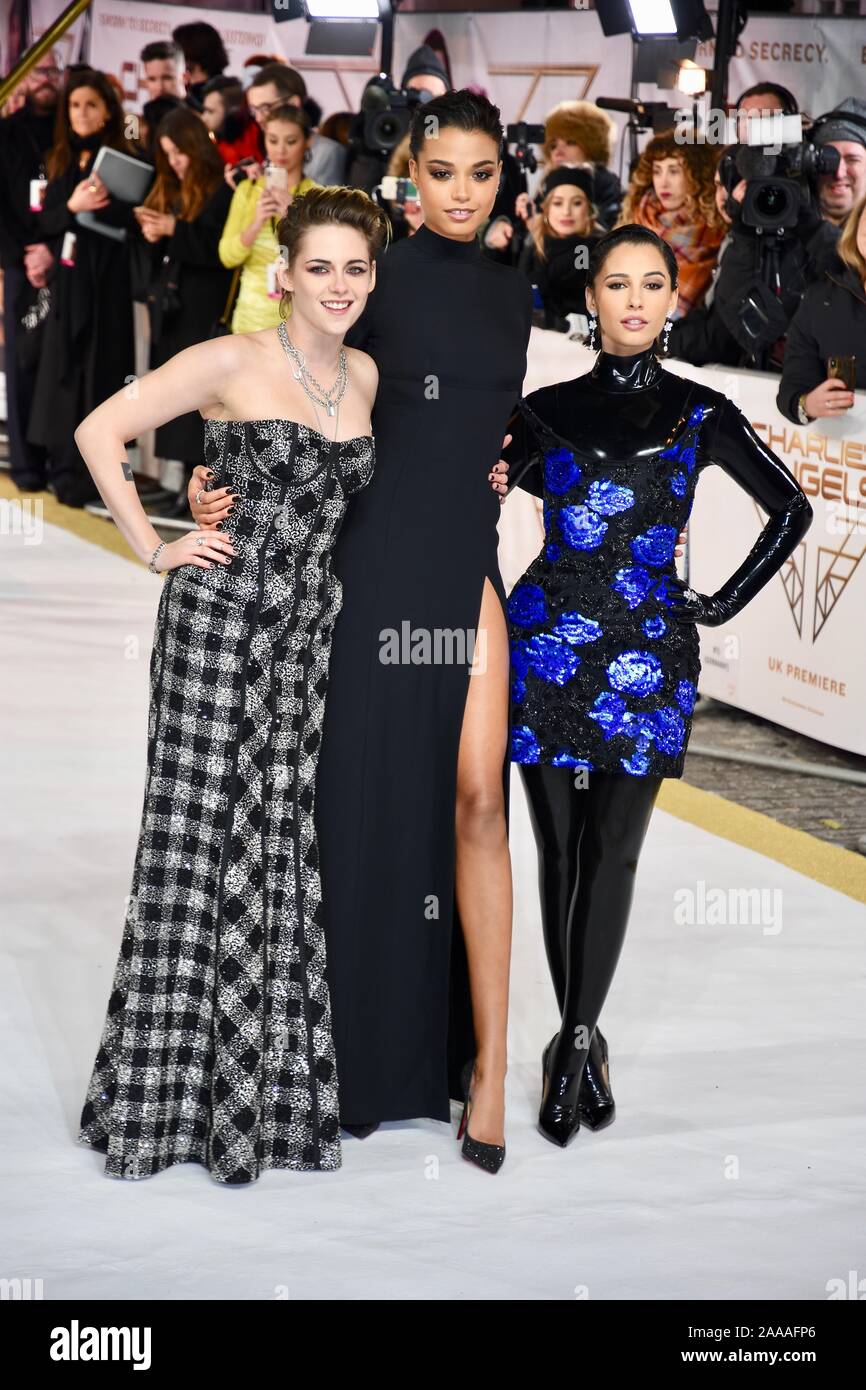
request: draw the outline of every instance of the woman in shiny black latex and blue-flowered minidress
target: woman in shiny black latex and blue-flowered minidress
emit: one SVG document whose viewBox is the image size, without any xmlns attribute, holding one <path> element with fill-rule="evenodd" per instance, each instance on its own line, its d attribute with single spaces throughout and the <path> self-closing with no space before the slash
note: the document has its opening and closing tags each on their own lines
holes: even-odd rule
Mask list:
<svg viewBox="0 0 866 1390">
<path fill-rule="evenodd" d="M 676 303 L 677 264 L 653 232 L 627 225 L 602 238 L 587 289 L 596 364 L 521 402 L 506 452 L 523 459 L 513 481 L 545 502 L 542 553 L 509 598 L 512 756 L 538 842 L 562 1012 L 542 1061 L 539 1129 L 563 1147 L 584 1112 L 588 1047 L 652 808 L 662 778 L 683 776 L 701 671 L 695 624 L 740 613 L 812 520 L 796 480 L 741 411 L 660 367 L 655 342 Z M 712 463 L 769 520 L 731 578 L 705 595 L 677 577 L 674 545 Z M 610 1118 L 607 1097 L 591 1127 Z"/>
</svg>

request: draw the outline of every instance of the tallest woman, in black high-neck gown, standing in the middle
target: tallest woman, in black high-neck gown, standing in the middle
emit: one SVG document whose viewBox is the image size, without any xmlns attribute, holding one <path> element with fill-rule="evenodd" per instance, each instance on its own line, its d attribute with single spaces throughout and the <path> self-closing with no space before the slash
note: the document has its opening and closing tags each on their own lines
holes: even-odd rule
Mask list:
<svg viewBox="0 0 866 1390">
<path fill-rule="evenodd" d="M 418 108 L 424 225 L 379 261 L 346 335 L 379 371 L 377 467 L 335 548 L 343 609 L 317 784 L 341 1120 L 361 1134 L 448 1120 L 477 1054 L 470 1150 L 503 1144 L 509 655 L 491 468 L 532 311 L 530 282 L 475 235 L 502 139 L 473 93 Z M 220 512 L 195 503 L 200 477 L 203 523 Z"/>
</svg>

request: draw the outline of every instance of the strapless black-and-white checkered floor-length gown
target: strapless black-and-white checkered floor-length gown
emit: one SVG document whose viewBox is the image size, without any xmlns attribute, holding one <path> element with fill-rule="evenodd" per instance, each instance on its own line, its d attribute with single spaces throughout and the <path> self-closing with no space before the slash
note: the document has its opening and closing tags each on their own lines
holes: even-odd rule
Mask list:
<svg viewBox="0 0 866 1390">
<path fill-rule="evenodd" d="M 314 781 L 339 581 L 331 546 L 374 467 L 288 420 L 206 421 L 238 557 L 163 585 L 147 780 L 79 1143 L 113 1177 L 222 1183 L 341 1166 Z"/>
</svg>

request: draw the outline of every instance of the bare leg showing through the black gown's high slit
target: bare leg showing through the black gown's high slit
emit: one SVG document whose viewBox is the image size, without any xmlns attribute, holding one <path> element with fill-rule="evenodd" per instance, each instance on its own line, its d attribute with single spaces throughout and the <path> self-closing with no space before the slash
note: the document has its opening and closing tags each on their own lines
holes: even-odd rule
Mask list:
<svg viewBox="0 0 866 1390">
<path fill-rule="evenodd" d="M 470 1133 L 505 1143 L 506 1027 L 512 959 L 512 860 L 502 764 L 509 721 L 509 641 L 502 605 L 485 577 L 477 670 L 457 756 L 456 895 L 475 1027 Z M 481 669 L 484 667 L 484 669 Z"/>
</svg>

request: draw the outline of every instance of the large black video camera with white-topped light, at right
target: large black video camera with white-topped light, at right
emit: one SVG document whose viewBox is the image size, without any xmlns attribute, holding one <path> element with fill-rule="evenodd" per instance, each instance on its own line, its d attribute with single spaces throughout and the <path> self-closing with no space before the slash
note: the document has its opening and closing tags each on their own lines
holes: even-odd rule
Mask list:
<svg viewBox="0 0 866 1390">
<path fill-rule="evenodd" d="M 816 182 L 834 174 L 840 153 L 833 145 L 803 138 L 799 115 L 751 117 L 746 142 L 723 154 L 719 178 L 731 189 L 745 179 L 737 221 L 749 235 L 785 236 L 796 231 L 803 203 L 817 199 Z"/>
</svg>

